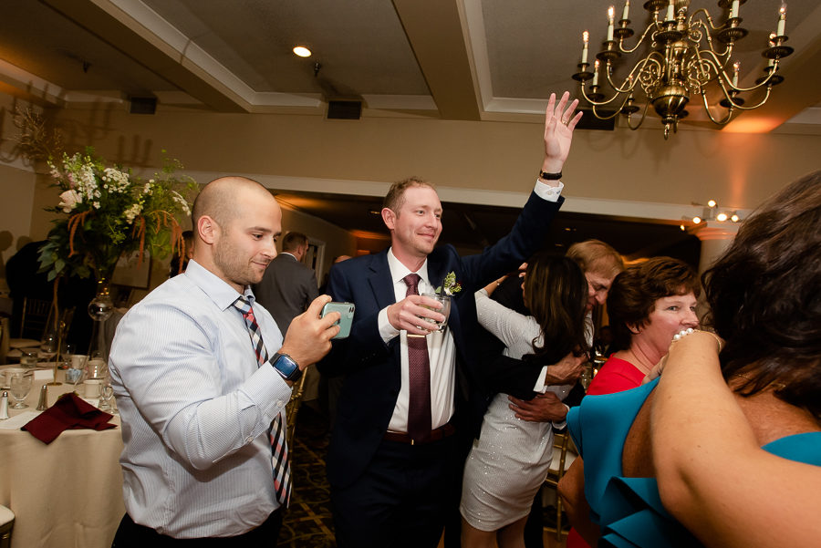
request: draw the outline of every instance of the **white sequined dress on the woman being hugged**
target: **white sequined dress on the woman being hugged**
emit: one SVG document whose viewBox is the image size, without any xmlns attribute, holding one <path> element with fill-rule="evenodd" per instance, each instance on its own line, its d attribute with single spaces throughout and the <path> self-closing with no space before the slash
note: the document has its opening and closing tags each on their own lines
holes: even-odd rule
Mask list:
<svg viewBox="0 0 821 548">
<path fill-rule="evenodd" d="M 539 325 L 476 292 L 479 323 L 499 337 L 504 354 L 522 357 L 533 353 Z M 541 344 L 541 339 L 537 341 Z M 572 385 L 547 387 L 564 399 Z M 462 517 L 480 531 L 495 531 L 530 512 L 536 491 L 545 480 L 553 452 L 553 425 L 515 418 L 506 394 L 497 394 L 484 414 L 480 439 L 464 466 Z"/>
</svg>

